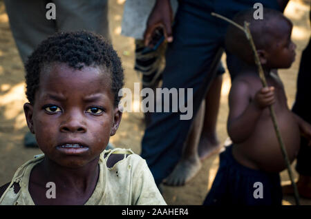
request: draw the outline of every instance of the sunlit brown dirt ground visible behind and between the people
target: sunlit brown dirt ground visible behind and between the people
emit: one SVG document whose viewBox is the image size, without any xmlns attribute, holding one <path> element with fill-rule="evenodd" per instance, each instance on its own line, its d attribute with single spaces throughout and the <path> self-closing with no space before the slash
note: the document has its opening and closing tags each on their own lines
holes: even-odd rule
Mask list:
<svg viewBox="0 0 311 219">
<path fill-rule="evenodd" d="M 125 69 L 125 87 L 133 90 L 134 83 L 140 82 L 140 77 L 133 70 L 134 41 L 120 35 L 124 1 L 109 1 L 109 20 L 113 45 L 121 56 Z M 292 67 L 288 70 L 279 71 L 285 85 L 289 106 L 294 103 L 296 76 L 301 52 L 310 37 L 309 5 L 310 0 L 292 0 L 285 10 L 285 15 L 294 23 L 292 39 L 297 45 L 296 61 Z M 223 60 L 225 60 L 225 55 Z M 16 169 L 26 160 L 29 160 L 35 154 L 41 154 L 39 149 L 23 147 L 23 136 L 28 131 L 23 114 L 23 103 L 27 101 L 24 94 L 23 74 L 23 65 L 12 37 L 5 6 L 3 1 L 0 0 L 0 185 L 10 181 Z M 217 125 L 218 137 L 221 142 L 224 142 L 227 138 L 227 96 L 229 87 L 230 79 L 228 72 L 226 72 L 223 80 Z M 139 154 L 143 134 L 142 113 L 124 113 L 120 128 L 117 134 L 111 138 L 111 142 L 117 147 L 131 148 Z M 212 156 L 202 163 L 200 172 L 187 185 L 164 187 L 163 196 L 167 204 L 201 205 L 214 180 L 218 163 L 218 155 Z M 294 167 L 294 163 L 292 167 Z M 297 177 L 296 171 L 294 171 L 294 176 Z M 281 173 L 281 178 L 282 184 L 290 183 L 287 171 Z M 301 198 L 301 204 L 311 205 L 311 200 Z M 283 205 L 294 205 L 294 198 L 285 196 Z"/>
</svg>

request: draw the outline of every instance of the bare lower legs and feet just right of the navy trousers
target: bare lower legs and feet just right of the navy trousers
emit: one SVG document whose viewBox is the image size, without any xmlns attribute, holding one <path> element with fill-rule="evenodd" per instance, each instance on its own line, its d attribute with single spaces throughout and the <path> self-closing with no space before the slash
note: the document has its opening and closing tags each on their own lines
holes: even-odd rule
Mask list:
<svg viewBox="0 0 311 219">
<path fill-rule="evenodd" d="M 216 57 L 217 59 L 219 57 Z M 200 105 L 193 124 L 191 124 L 181 159 L 171 174 L 164 179 L 165 185 L 185 185 L 200 170 L 202 166 L 200 160 L 219 152 L 221 149 L 216 136 L 216 121 L 224 70 L 219 63 L 214 63 L 216 65 L 211 65 L 207 74 L 216 74 L 216 78 L 211 81 L 209 90 Z M 218 68 L 217 65 L 219 65 Z M 202 154 L 205 156 L 204 158 L 202 158 Z"/>
</svg>

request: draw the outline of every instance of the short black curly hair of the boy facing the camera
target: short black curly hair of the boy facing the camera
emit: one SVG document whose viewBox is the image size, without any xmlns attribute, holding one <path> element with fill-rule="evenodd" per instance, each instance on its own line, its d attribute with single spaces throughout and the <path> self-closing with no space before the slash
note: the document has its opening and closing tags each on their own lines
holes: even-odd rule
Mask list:
<svg viewBox="0 0 311 219">
<path fill-rule="evenodd" d="M 111 74 L 111 90 L 114 106 L 120 101 L 119 90 L 124 85 L 124 73 L 120 57 L 112 45 L 102 36 L 87 31 L 57 32 L 42 41 L 26 62 L 26 96 L 35 103 L 39 88 L 40 72 L 49 63 L 66 63 L 75 69 L 86 66 L 103 66 Z"/>
</svg>

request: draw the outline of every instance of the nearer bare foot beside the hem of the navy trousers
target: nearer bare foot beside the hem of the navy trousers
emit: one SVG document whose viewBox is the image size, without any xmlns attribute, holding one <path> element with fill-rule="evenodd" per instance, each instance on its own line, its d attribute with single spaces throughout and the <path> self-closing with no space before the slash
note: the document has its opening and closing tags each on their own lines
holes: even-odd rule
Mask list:
<svg viewBox="0 0 311 219">
<path fill-rule="evenodd" d="M 178 162 L 171 174 L 164 179 L 164 185 L 181 186 L 194 178 L 201 168 L 201 163 L 196 159 L 183 159 Z"/>
</svg>

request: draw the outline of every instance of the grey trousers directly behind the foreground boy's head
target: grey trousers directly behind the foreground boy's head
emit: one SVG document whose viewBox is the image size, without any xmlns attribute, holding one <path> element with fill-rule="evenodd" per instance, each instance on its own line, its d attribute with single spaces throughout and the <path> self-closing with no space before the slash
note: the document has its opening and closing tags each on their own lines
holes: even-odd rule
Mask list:
<svg viewBox="0 0 311 219">
<path fill-rule="evenodd" d="M 107 0 L 5 0 L 10 28 L 21 60 L 58 31 L 88 30 L 110 40 Z M 47 3 L 55 3 L 56 19 L 46 19 Z"/>
</svg>

